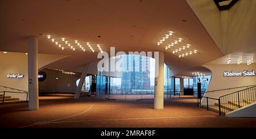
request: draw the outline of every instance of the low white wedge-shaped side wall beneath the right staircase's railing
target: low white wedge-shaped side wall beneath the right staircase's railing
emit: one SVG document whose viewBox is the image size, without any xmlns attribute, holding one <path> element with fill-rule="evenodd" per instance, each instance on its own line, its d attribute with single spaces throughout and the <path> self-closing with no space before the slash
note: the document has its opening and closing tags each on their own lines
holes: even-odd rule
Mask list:
<svg viewBox="0 0 256 139">
<path fill-rule="evenodd" d="M 256 102 L 228 112 L 226 117 L 256 117 Z"/>
</svg>

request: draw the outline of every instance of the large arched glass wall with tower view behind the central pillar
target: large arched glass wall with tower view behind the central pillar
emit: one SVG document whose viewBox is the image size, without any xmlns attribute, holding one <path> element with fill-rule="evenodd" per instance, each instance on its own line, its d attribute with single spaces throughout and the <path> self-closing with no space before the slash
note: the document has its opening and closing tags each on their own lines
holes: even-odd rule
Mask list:
<svg viewBox="0 0 256 139">
<path fill-rule="evenodd" d="M 154 58 L 134 54 L 126 54 L 115 57 L 114 61 L 115 63 L 119 61 L 122 62 L 121 71 L 101 72 L 101 69 L 98 69 L 97 94 L 99 97 L 105 97 L 103 95 L 129 95 L 125 97 L 130 97 L 131 95 L 141 95 L 136 96 L 135 99 L 144 99 L 143 95 L 147 95 L 147 98 L 149 95 L 152 95 L 150 98 L 154 98 Z M 165 94 L 169 94 L 170 91 L 173 90 L 171 75 L 171 69 L 166 64 L 164 64 Z"/>
</svg>

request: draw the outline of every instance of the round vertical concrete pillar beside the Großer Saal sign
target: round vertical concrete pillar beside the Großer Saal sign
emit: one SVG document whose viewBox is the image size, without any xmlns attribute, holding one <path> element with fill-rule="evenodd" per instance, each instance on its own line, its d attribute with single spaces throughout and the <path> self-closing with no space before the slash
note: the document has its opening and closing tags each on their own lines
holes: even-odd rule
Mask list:
<svg viewBox="0 0 256 139">
<path fill-rule="evenodd" d="M 28 41 L 28 109 L 39 109 L 38 102 L 38 37 L 29 36 Z"/>
</svg>

